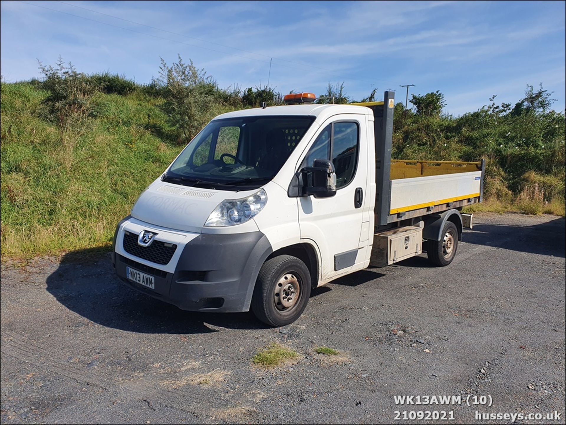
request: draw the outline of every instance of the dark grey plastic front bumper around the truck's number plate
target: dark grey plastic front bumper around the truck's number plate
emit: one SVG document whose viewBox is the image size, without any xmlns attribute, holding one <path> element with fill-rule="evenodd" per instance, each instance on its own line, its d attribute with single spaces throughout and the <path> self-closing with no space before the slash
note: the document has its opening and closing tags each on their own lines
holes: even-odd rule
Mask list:
<svg viewBox="0 0 566 425">
<path fill-rule="evenodd" d="M 151 230 L 151 225 L 144 226 Z M 128 286 L 189 311 L 240 312 L 250 310 L 259 269 L 271 254 L 271 244 L 260 231 L 199 234 L 179 244 L 170 263 L 160 265 L 128 254 L 118 225 L 112 262 Z M 174 263 L 174 264 L 172 264 Z M 150 289 L 127 278 L 126 267 L 153 276 Z"/>
</svg>

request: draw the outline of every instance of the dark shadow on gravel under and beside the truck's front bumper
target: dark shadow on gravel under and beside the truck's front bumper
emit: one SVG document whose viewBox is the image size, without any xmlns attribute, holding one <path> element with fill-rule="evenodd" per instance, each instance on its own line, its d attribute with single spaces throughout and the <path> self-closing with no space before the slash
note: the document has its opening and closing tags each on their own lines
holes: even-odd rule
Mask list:
<svg viewBox="0 0 566 425">
<path fill-rule="evenodd" d="M 70 252 L 46 280 L 59 303 L 102 326 L 140 333 L 196 334 L 215 327 L 265 329 L 251 312 L 183 311 L 124 285 L 115 276 L 110 254 L 97 250 Z M 211 326 L 212 325 L 212 326 Z"/>
</svg>

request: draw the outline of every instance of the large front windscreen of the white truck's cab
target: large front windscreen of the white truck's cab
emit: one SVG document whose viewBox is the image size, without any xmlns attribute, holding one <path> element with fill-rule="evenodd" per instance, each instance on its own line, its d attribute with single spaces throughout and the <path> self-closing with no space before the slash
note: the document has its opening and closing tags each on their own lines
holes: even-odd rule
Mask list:
<svg viewBox="0 0 566 425">
<path fill-rule="evenodd" d="M 212 188 L 259 187 L 275 177 L 314 119 L 215 119 L 181 152 L 163 180 Z"/>
</svg>

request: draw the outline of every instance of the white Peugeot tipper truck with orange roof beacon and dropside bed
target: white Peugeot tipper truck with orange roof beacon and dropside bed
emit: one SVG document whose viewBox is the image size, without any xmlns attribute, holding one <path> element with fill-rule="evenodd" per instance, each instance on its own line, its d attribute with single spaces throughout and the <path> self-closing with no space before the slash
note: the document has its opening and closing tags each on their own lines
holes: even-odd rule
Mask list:
<svg viewBox="0 0 566 425">
<path fill-rule="evenodd" d="M 118 276 L 183 310 L 251 308 L 282 326 L 311 289 L 370 264 L 423 250 L 450 264 L 485 162 L 392 161 L 393 94 L 219 115 L 118 224 Z"/>
</svg>

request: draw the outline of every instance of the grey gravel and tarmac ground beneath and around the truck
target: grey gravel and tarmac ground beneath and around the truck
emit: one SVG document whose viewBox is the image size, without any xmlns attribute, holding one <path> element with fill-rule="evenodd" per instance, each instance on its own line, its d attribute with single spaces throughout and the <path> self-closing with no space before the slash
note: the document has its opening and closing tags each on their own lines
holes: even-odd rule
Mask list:
<svg viewBox="0 0 566 425">
<path fill-rule="evenodd" d="M 351 274 L 315 290 L 281 329 L 132 291 L 108 255 L 5 264 L 1 421 L 391 423 L 395 411 L 432 410 L 454 420 L 428 423 L 471 423 L 477 410 L 558 411 L 558 421 L 516 423 L 565 423 L 564 218 L 474 221 L 449 267 L 416 257 Z M 254 366 L 272 342 L 298 358 Z M 340 355 L 314 353 L 322 345 Z M 404 394 L 462 403 L 395 405 Z M 466 405 L 470 394 L 492 406 Z"/>
</svg>

